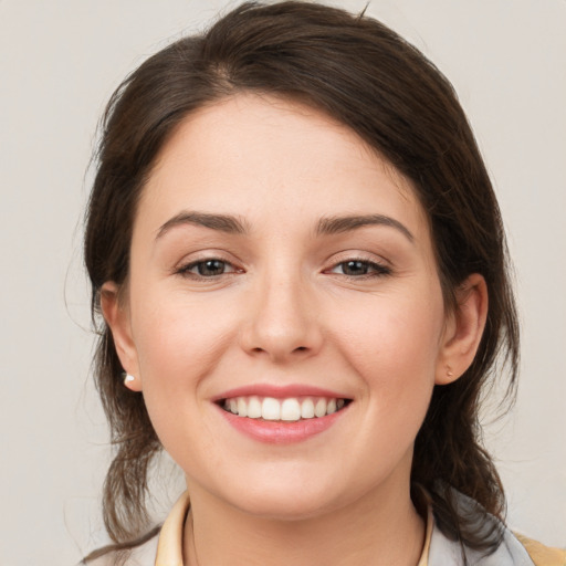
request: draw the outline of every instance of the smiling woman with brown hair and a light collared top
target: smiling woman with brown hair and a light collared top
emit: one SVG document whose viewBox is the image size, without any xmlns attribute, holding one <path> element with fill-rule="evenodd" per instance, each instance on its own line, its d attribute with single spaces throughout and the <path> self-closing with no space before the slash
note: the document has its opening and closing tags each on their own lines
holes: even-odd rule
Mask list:
<svg viewBox="0 0 566 566">
<path fill-rule="evenodd" d="M 497 203 L 394 32 L 243 4 L 150 57 L 108 105 L 85 255 L 117 444 L 87 564 L 538 560 L 479 443 L 517 369 Z M 188 490 L 146 533 L 161 448 Z"/>
</svg>

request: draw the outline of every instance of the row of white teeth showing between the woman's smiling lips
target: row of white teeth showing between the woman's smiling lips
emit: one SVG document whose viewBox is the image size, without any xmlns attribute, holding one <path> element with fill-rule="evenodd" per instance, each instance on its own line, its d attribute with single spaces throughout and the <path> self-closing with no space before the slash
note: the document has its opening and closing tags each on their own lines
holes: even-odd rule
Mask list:
<svg viewBox="0 0 566 566">
<path fill-rule="evenodd" d="M 352 399 L 332 397 L 231 397 L 220 399 L 218 405 L 237 417 L 268 421 L 296 422 L 303 419 L 317 419 L 343 410 Z"/>
</svg>

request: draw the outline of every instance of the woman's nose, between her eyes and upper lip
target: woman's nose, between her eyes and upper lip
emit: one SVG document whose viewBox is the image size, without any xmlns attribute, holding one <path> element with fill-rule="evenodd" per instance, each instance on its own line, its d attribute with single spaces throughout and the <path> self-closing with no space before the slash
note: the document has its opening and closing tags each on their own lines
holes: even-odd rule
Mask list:
<svg viewBox="0 0 566 566">
<path fill-rule="evenodd" d="M 300 276 L 272 276 L 258 281 L 241 328 L 241 346 L 250 355 L 274 364 L 304 359 L 323 344 L 313 290 Z"/>
</svg>

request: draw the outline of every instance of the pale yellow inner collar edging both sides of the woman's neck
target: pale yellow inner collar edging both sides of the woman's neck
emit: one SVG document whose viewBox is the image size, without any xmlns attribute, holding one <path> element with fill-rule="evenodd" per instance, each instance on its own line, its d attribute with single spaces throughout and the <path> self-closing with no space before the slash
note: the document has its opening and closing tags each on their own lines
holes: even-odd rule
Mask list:
<svg viewBox="0 0 566 566">
<path fill-rule="evenodd" d="M 174 505 L 167 520 L 161 527 L 159 534 L 159 543 L 157 545 L 157 556 L 155 566 L 184 566 L 182 564 L 182 531 L 185 520 L 189 512 L 190 497 L 186 491 Z M 432 537 L 432 525 L 434 520 L 432 512 L 429 510 L 427 518 L 427 534 L 424 537 L 424 548 L 417 566 L 427 566 L 429 562 L 429 547 Z"/>
</svg>

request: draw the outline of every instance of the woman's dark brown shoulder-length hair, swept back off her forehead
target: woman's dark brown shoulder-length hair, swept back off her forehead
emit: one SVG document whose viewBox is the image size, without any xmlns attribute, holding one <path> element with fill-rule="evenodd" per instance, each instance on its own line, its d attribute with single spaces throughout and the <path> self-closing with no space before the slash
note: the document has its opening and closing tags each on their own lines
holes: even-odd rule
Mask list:
<svg viewBox="0 0 566 566">
<path fill-rule="evenodd" d="M 454 290 L 468 275 L 485 277 L 489 313 L 478 355 L 460 379 L 434 388 L 411 479 L 413 499 L 427 494 L 447 536 L 493 551 L 501 533 L 486 535 L 469 523 L 450 490 L 502 517 L 503 489 L 481 446 L 478 412 L 484 386 L 503 364 L 512 399 L 518 328 L 488 172 L 451 84 L 417 49 L 366 15 L 296 1 L 244 3 L 206 33 L 177 41 L 128 76 L 106 108 L 85 261 L 99 324 L 95 377 L 117 449 L 104 486 L 111 537 L 127 547 L 147 527 L 148 468 L 161 447 L 143 397 L 123 386 L 112 334 L 99 317 L 101 287 L 127 280 L 136 202 L 171 132 L 191 112 L 239 92 L 323 109 L 411 179 L 429 217 L 449 307 L 458 307 Z"/>
</svg>

